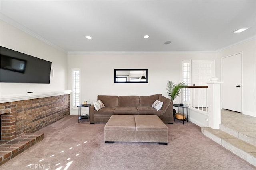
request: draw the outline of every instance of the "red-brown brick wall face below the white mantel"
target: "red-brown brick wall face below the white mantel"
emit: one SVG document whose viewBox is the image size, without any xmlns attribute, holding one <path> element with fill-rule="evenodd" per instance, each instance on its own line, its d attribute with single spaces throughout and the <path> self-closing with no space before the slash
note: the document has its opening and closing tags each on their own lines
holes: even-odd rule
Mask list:
<svg viewBox="0 0 256 170">
<path fill-rule="evenodd" d="M 38 131 L 70 113 L 70 94 L 0 104 L 1 139 Z M 15 131 L 14 131 L 15 129 Z"/>
</svg>

